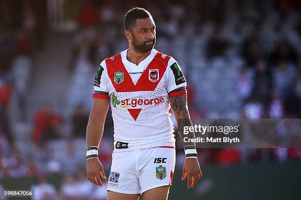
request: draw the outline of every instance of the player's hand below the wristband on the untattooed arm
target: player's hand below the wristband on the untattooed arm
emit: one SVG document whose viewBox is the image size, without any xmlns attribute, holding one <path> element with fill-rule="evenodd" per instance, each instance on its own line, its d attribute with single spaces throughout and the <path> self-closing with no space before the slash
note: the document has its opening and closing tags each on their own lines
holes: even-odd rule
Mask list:
<svg viewBox="0 0 301 200">
<path fill-rule="evenodd" d="M 91 158 L 87 160 L 87 178 L 92 183 L 96 185 L 100 185 L 102 187 L 102 182 L 100 180 L 100 175 L 103 179 L 107 179 L 101 162 L 98 160 L 98 158 Z"/>
</svg>

